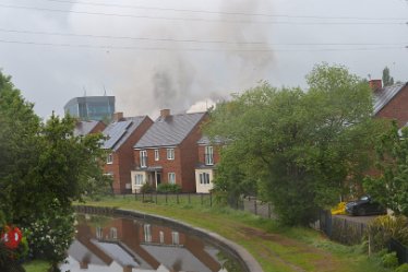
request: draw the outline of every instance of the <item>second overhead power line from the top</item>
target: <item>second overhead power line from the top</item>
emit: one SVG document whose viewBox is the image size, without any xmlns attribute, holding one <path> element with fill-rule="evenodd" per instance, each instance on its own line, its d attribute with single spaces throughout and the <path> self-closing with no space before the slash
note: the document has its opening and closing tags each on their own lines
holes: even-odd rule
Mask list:
<svg viewBox="0 0 408 272">
<path fill-rule="evenodd" d="M 202 17 L 167 17 L 167 16 L 153 16 L 153 15 L 135 15 L 122 13 L 105 13 L 105 12 L 91 12 L 91 11 L 72 11 L 59 10 L 26 5 L 13 5 L 0 3 L 1 8 L 20 9 L 20 10 L 36 10 L 58 13 L 74 13 L 83 15 L 103 15 L 116 17 L 132 17 L 132 19 L 148 19 L 148 20 L 166 20 L 166 21 L 195 21 L 195 22 L 214 22 L 214 23 L 249 23 L 249 24 L 286 24 L 286 25 L 403 25 L 406 22 L 284 22 L 284 21 L 253 21 L 253 20 L 212 20 Z"/>
</svg>

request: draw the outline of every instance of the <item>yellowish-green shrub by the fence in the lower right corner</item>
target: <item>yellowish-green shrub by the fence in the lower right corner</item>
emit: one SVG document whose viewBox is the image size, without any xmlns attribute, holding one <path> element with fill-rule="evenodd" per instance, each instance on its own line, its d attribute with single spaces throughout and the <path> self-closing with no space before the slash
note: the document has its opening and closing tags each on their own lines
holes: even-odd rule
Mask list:
<svg viewBox="0 0 408 272">
<path fill-rule="evenodd" d="M 365 234 L 373 251 L 386 248 L 391 238 L 398 240 L 404 245 L 408 245 L 408 218 L 399 216 L 383 215 L 373 220 Z"/>
</svg>

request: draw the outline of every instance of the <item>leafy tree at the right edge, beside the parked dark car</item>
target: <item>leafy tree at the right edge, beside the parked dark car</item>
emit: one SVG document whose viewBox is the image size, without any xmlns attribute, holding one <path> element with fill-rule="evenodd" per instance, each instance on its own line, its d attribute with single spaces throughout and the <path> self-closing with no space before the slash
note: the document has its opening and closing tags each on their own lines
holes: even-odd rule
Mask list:
<svg viewBox="0 0 408 272">
<path fill-rule="evenodd" d="M 408 128 L 394 122 L 376 147 L 379 175 L 367 177 L 364 187 L 384 206 L 408 216 Z"/>
</svg>

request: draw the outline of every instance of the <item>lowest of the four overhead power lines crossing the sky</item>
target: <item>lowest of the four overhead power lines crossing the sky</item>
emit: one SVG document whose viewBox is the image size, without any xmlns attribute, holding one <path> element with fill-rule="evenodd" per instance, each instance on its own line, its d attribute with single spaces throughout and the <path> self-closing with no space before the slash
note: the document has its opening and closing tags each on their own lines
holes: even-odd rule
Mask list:
<svg viewBox="0 0 408 272">
<path fill-rule="evenodd" d="M 110 46 L 110 45 L 85 45 L 85 44 L 56 44 L 56 43 L 39 43 L 39 42 L 24 42 L 24 40 L 7 40 L 0 39 L 2 44 L 19 44 L 19 45 L 34 45 L 34 46 L 52 46 L 52 47 L 69 47 L 69 48 L 88 48 L 88 49 L 118 49 L 118 50 L 148 50 L 148 51 L 207 51 L 207 52 L 277 52 L 277 51 L 370 51 L 370 50 L 391 50 L 391 49 L 406 49 L 408 46 L 376 46 L 376 47 L 359 47 L 359 48 L 303 48 L 303 49 L 239 49 L 239 48 L 169 48 L 169 47 L 140 47 L 140 46 Z"/>
</svg>

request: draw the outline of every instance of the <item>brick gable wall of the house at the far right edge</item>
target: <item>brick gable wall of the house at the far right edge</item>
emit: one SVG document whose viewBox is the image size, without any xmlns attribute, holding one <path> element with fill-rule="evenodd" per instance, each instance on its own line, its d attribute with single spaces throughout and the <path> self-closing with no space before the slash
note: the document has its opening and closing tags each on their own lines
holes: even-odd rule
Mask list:
<svg viewBox="0 0 408 272">
<path fill-rule="evenodd" d="M 396 119 L 398 127 L 403 127 L 408 122 L 408 85 L 399 91 L 391 102 L 382 108 L 377 114 L 379 118 Z"/>
</svg>

